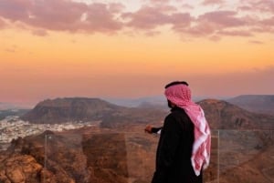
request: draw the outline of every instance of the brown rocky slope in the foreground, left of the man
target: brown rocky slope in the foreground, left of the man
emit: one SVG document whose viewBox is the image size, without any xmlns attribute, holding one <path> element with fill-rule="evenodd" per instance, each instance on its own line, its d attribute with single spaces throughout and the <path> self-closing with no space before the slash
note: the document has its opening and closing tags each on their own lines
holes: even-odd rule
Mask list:
<svg viewBox="0 0 274 183">
<path fill-rule="evenodd" d="M 1 183 L 145 181 L 143 178 L 153 173 L 157 138 L 128 137 L 117 132 L 47 131 L 18 140 L 13 141 L 5 158 L 0 158 Z M 148 171 L 136 171 L 141 168 Z"/>
</svg>

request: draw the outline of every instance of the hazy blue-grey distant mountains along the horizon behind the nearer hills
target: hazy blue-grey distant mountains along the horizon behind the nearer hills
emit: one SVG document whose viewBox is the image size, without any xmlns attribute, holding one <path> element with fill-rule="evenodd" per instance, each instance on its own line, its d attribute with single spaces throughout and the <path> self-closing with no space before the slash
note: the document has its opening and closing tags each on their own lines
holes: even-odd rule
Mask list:
<svg viewBox="0 0 274 183">
<path fill-rule="evenodd" d="M 212 97 L 194 97 L 195 102 Z M 274 115 L 274 95 L 241 95 L 237 97 L 214 97 L 225 100 L 233 105 L 242 107 L 248 111 Z M 158 107 L 166 108 L 166 99 L 163 96 L 139 97 L 139 98 L 101 98 L 111 104 L 120 107 Z M 22 106 L 0 102 L 0 110 L 30 109 L 30 106 Z"/>
</svg>

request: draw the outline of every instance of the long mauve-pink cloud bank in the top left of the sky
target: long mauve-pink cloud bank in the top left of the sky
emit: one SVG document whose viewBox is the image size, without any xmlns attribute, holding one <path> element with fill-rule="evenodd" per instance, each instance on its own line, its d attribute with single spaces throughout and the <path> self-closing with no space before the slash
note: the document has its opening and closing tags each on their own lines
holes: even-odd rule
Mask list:
<svg viewBox="0 0 274 183">
<path fill-rule="evenodd" d="M 120 4 L 86 5 L 68 0 L 5 0 L 0 3 L 0 15 L 11 22 L 49 30 L 111 32 L 121 29 L 121 22 L 114 18 L 121 7 Z"/>
</svg>

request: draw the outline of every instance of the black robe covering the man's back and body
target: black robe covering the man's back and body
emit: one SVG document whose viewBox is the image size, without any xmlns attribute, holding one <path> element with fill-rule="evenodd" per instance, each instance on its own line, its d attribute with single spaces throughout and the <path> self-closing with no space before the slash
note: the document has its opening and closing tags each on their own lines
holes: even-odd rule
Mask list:
<svg viewBox="0 0 274 183">
<path fill-rule="evenodd" d="M 194 124 L 184 109 L 174 107 L 164 119 L 153 183 L 202 183 L 191 165 Z"/>
</svg>

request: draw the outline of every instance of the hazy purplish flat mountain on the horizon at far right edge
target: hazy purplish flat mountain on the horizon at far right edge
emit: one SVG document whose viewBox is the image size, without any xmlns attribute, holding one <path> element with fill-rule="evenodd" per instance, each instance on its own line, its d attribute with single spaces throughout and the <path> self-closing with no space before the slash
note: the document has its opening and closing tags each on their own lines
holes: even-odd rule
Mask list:
<svg viewBox="0 0 274 183">
<path fill-rule="evenodd" d="M 274 95 L 243 95 L 227 99 L 227 102 L 251 112 L 274 116 Z"/>
</svg>

